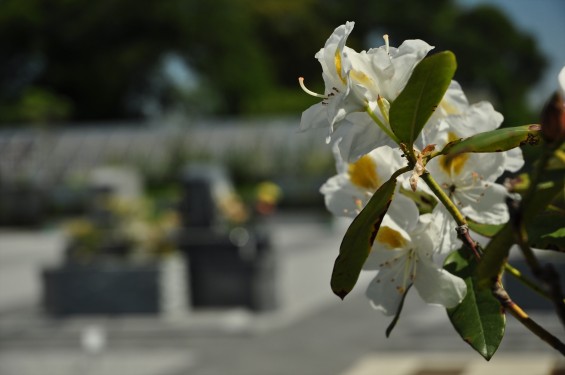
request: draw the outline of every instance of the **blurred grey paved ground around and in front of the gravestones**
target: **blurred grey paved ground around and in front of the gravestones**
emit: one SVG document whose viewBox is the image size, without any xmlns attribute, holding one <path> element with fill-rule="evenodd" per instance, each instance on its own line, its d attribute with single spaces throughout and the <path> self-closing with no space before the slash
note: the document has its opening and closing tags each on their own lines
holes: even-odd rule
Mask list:
<svg viewBox="0 0 565 375">
<path fill-rule="evenodd" d="M 38 306 L 36 273 L 42 264 L 57 261 L 60 235 L 0 234 L 0 374 L 550 375 L 563 365 L 510 318 L 501 348 L 485 368 L 444 311 L 416 296 L 407 300 L 386 339 L 389 319 L 369 307 L 362 288 L 344 302 L 327 288 L 343 225 L 296 216 L 273 224 L 286 297 L 284 308 L 263 314 L 231 309 L 176 317 L 49 318 Z M 38 243 L 43 250 L 37 250 Z M 565 338 L 551 314 L 534 316 Z"/>
</svg>

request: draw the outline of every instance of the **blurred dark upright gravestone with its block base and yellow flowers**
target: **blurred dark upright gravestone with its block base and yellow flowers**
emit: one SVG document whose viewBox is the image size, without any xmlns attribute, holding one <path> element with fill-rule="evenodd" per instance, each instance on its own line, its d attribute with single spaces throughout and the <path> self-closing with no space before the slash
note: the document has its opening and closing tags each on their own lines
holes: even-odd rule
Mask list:
<svg viewBox="0 0 565 375">
<path fill-rule="evenodd" d="M 220 201 L 233 193 L 226 172 L 193 165 L 181 180 L 179 248 L 188 258 L 192 305 L 276 308 L 276 260 L 268 236 L 253 228 L 230 228 L 222 217 Z"/>
</svg>

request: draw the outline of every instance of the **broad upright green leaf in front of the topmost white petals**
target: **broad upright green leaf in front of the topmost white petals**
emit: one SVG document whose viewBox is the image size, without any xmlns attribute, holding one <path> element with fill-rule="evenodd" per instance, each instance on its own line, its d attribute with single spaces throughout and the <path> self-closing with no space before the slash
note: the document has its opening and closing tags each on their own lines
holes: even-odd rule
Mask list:
<svg viewBox="0 0 565 375">
<path fill-rule="evenodd" d="M 450 51 L 423 59 L 404 90 L 390 105 L 390 127 L 412 149 L 414 140 L 439 105 L 455 74 L 457 63 Z"/>
</svg>

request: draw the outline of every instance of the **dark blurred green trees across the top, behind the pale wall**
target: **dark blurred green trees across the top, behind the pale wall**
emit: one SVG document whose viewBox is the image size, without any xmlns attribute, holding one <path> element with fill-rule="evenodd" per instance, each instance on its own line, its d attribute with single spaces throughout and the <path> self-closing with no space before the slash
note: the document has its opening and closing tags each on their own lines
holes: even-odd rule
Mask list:
<svg viewBox="0 0 565 375">
<path fill-rule="evenodd" d="M 386 32 L 393 44 L 421 38 L 453 50 L 464 61 L 456 78 L 466 88 L 492 95 L 509 123 L 528 115 L 526 93 L 544 59 L 530 36 L 490 7 L 462 10 L 453 0 L 4 0 L 0 123 L 142 118 L 174 107 L 297 114 L 313 102 L 297 77 L 323 87 L 312 46 L 346 20 L 357 22 L 348 43 L 354 48 L 380 44 Z"/>
</svg>

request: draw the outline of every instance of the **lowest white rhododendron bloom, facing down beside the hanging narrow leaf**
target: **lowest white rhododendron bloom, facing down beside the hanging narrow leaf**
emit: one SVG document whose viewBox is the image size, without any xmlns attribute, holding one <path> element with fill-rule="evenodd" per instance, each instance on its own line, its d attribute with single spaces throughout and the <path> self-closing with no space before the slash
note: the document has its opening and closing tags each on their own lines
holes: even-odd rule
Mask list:
<svg viewBox="0 0 565 375">
<path fill-rule="evenodd" d="M 465 282 L 434 259 L 439 238 L 432 219 L 430 214 L 419 216 L 416 204 L 402 195 L 383 219 L 363 269 L 377 270 L 366 295 L 385 315 L 397 312 L 411 285 L 425 302 L 447 308 L 465 297 Z"/>
</svg>

